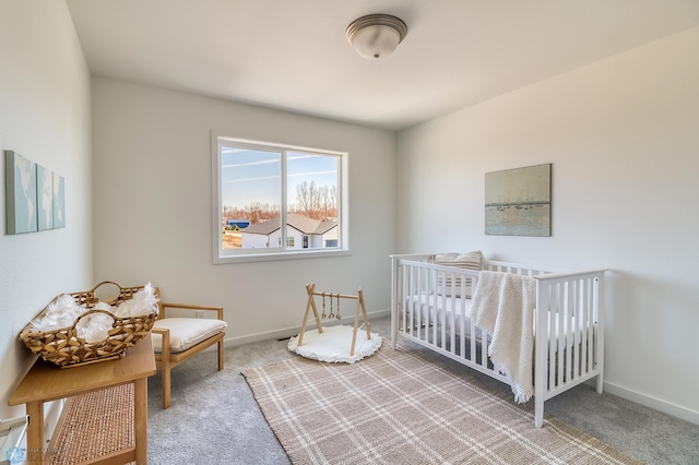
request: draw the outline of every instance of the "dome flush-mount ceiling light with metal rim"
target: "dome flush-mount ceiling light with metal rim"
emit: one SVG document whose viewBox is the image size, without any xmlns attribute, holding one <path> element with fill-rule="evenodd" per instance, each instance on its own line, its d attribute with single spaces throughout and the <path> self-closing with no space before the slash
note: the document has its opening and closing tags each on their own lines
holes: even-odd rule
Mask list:
<svg viewBox="0 0 699 465">
<path fill-rule="evenodd" d="M 403 41 L 407 26 L 390 14 L 369 14 L 347 26 L 347 41 L 367 60 L 388 57 Z"/>
</svg>

